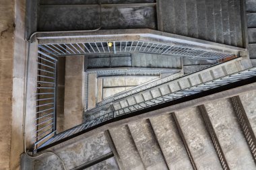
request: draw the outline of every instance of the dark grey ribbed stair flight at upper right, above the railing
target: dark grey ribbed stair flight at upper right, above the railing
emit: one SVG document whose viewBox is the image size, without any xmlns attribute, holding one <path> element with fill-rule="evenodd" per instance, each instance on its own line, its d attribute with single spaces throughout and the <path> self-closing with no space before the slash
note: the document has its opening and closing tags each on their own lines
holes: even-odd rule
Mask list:
<svg viewBox="0 0 256 170">
<path fill-rule="evenodd" d="M 232 46 L 243 46 L 240 0 L 164 0 L 160 30 Z"/>
</svg>

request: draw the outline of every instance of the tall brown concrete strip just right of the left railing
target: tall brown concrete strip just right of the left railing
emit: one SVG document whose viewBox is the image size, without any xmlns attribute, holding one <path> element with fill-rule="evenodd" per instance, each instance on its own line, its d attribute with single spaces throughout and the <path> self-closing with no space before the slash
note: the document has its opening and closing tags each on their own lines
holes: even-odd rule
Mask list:
<svg viewBox="0 0 256 170">
<path fill-rule="evenodd" d="M 65 67 L 64 130 L 82 124 L 84 56 L 67 56 Z"/>
</svg>

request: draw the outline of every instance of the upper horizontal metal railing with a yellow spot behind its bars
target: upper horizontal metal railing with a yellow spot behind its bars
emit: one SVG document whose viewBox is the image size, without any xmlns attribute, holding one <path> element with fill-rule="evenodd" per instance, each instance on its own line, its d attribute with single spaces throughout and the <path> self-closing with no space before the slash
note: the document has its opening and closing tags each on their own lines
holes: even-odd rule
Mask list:
<svg viewBox="0 0 256 170">
<path fill-rule="evenodd" d="M 52 52 L 57 56 L 81 54 L 119 54 L 119 53 L 150 53 L 190 58 L 218 60 L 232 56 L 228 52 L 214 52 L 213 50 L 192 48 L 179 44 L 164 44 L 146 41 L 117 41 L 117 42 L 86 42 L 65 44 L 42 44 L 40 48 Z"/>
</svg>

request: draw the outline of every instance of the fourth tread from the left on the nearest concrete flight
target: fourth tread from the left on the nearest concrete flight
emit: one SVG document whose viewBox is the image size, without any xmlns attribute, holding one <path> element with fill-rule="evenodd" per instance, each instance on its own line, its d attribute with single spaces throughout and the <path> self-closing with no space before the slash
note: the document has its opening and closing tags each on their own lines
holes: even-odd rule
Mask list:
<svg viewBox="0 0 256 170">
<path fill-rule="evenodd" d="M 197 169 L 222 169 L 197 108 L 175 112 Z"/>
</svg>

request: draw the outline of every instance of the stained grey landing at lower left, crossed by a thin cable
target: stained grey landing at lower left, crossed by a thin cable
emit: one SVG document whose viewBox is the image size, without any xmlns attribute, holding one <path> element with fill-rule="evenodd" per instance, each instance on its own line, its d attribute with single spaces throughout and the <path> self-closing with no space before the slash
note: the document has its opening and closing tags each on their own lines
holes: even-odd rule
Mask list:
<svg viewBox="0 0 256 170">
<path fill-rule="evenodd" d="M 104 136 L 104 133 L 95 134 L 89 138 L 84 138 L 70 144 L 63 146 L 57 150 L 53 148 L 61 159 L 63 159 L 67 169 L 73 169 L 84 163 L 88 163 L 93 159 L 110 153 L 110 146 Z M 104 163 L 103 163 L 104 165 Z M 109 161 L 104 165 L 111 165 L 110 167 L 117 166 L 115 161 Z M 61 162 L 54 155 L 47 155 L 46 157 L 37 159 L 35 161 L 35 169 L 59 169 L 62 170 Z M 106 167 L 104 168 L 106 169 Z"/>
</svg>

